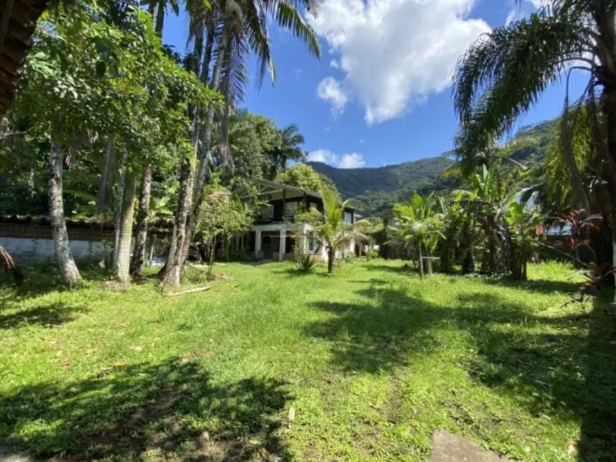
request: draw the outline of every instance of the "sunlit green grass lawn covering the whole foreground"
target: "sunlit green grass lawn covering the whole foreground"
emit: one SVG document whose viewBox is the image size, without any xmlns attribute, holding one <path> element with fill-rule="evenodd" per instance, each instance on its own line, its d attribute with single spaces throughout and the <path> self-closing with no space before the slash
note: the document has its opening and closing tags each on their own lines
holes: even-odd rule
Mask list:
<svg viewBox="0 0 616 462">
<path fill-rule="evenodd" d="M 355 262 L 219 265 L 167 296 L 0 288 L 0 444 L 98 460 L 418 461 L 445 428 L 525 461 L 613 460 L 616 321 L 531 281 Z M 195 283 L 196 284 L 196 283 Z M 54 288 L 55 287 L 55 288 Z M 293 408 L 294 419 L 289 419 Z"/>
</svg>

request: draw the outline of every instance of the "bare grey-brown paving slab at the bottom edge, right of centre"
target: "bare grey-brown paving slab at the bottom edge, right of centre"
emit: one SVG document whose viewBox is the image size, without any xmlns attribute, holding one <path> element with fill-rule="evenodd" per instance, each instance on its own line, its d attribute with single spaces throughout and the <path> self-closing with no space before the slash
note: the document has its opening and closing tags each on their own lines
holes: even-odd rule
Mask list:
<svg viewBox="0 0 616 462">
<path fill-rule="evenodd" d="M 463 436 L 447 430 L 436 430 L 432 434 L 430 462 L 509 462 L 511 459 L 499 456 L 493 451 L 478 446 Z"/>
</svg>

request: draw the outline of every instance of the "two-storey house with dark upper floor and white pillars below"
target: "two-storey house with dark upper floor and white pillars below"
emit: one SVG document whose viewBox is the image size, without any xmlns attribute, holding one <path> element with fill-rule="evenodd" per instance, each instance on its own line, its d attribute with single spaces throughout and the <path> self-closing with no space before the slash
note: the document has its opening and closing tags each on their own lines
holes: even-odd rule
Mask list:
<svg viewBox="0 0 616 462">
<path fill-rule="evenodd" d="M 255 178 L 237 190 L 239 198 L 258 198 L 265 202 L 251 230 L 243 236 L 236 237 L 234 245 L 244 252 L 254 252 L 256 259 L 282 261 L 293 259 L 298 249 L 310 253 L 316 259 L 327 260 L 327 249 L 313 239 L 312 227 L 308 223 L 296 222 L 296 215 L 310 208 L 323 212 L 323 198 L 314 191 L 296 186 L 276 183 L 275 181 Z M 355 208 L 345 210 L 345 220 L 355 223 L 360 220 Z M 345 252 L 356 252 L 355 242 L 348 249 L 342 249 L 338 257 Z"/>
</svg>

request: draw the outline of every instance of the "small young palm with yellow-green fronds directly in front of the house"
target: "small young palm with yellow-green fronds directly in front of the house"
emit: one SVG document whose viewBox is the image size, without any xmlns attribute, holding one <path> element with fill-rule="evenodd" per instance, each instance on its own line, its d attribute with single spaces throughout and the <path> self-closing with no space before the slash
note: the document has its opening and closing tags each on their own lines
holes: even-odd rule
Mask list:
<svg viewBox="0 0 616 462">
<path fill-rule="evenodd" d="M 297 215 L 298 220 L 306 221 L 313 227 L 313 235 L 320 245 L 328 250 L 328 274 L 334 270 L 334 261 L 338 249 L 351 242 L 364 241 L 366 236 L 357 230 L 357 223 L 345 221 L 345 209 L 350 205 L 347 199 L 342 204 L 333 191 L 320 190 L 323 198 L 323 212 L 310 208 L 306 213 Z"/>
</svg>

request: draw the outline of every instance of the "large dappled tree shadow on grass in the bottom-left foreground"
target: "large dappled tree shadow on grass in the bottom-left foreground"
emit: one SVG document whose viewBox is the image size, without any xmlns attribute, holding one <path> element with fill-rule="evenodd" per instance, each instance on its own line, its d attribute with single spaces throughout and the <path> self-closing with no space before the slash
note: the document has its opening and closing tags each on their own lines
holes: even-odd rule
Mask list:
<svg viewBox="0 0 616 462">
<path fill-rule="evenodd" d="M 213 384 L 195 362 L 114 367 L 58 386 L 0 396 L 0 439 L 14 450 L 66 461 L 293 460 L 277 430 L 291 397 L 284 383 Z"/>
</svg>

